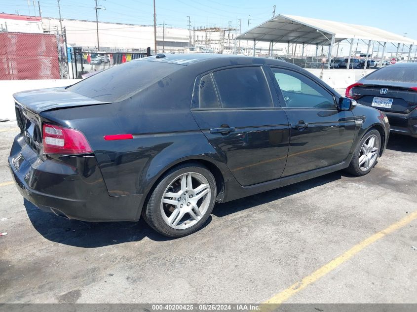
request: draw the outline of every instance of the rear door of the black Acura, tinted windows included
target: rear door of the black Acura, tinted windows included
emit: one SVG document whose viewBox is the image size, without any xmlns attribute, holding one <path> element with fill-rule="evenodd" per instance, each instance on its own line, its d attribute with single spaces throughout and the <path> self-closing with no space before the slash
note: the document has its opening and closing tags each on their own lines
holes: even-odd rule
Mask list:
<svg viewBox="0 0 417 312">
<path fill-rule="evenodd" d="M 243 186 L 277 179 L 284 170 L 289 128 L 276 101 L 259 66 L 220 69 L 196 79 L 192 114 Z"/>
</svg>

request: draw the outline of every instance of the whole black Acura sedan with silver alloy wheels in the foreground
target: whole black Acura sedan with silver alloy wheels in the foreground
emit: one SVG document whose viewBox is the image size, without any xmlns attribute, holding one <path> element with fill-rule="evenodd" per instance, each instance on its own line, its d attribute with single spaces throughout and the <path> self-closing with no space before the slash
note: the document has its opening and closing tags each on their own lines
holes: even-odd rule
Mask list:
<svg viewBox="0 0 417 312">
<path fill-rule="evenodd" d="M 368 173 L 389 124 L 295 65 L 157 55 L 14 95 L 21 194 L 71 219 L 188 235 L 224 203 L 346 169 Z"/>
</svg>

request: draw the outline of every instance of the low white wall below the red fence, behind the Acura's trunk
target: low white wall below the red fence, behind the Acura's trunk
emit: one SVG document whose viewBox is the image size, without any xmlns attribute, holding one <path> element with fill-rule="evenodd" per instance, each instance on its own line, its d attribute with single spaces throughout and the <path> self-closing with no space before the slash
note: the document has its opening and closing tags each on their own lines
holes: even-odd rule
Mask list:
<svg viewBox="0 0 417 312">
<path fill-rule="evenodd" d="M 33 89 L 64 87 L 79 80 L 81 79 L 0 80 L 0 119 L 16 120 L 13 93 Z"/>
</svg>

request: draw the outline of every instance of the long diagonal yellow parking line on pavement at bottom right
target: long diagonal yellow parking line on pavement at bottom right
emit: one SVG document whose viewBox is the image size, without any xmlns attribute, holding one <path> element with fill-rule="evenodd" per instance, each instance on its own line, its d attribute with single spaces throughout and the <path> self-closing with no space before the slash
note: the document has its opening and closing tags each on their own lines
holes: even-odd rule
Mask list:
<svg viewBox="0 0 417 312">
<path fill-rule="evenodd" d="M 296 293 L 298 293 L 300 290 L 303 290 L 305 287 L 307 287 L 309 284 L 314 283 L 316 280 L 318 280 L 320 277 L 325 276 L 326 274 L 330 273 L 337 267 L 339 267 L 342 263 L 346 262 L 350 258 L 352 258 L 355 254 L 357 254 L 359 251 L 367 247 L 368 245 L 375 243 L 376 241 L 380 240 L 384 236 L 406 226 L 411 221 L 417 219 L 417 210 L 410 213 L 405 218 L 391 224 L 386 229 L 372 235 L 371 237 L 367 238 L 366 240 L 362 241 L 361 243 L 358 243 L 354 245 L 349 250 L 345 251 L 341 256 L 337 257 L 336 259 L 330 261 L 320 269 L 317 269 L 313 273 L 311 273 L 309 276 L 304 277 L 300 282 L 296 282 L 292 284 L 287 289 L 277 293 L 272 298 L 267 300 L 265 303 L 272 303 L 272 304 L 280 304 L 292 296 L 294 296 Z M 264 309 L 264 310 L 267 310 Z"/>
</svg>

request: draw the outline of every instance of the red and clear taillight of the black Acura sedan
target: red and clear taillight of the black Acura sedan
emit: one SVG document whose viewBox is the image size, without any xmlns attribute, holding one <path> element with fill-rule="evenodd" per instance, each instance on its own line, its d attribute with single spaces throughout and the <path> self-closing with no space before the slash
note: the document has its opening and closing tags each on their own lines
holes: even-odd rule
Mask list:
<svg viewBox="0 0 417 312">
<path fill-rule="evenodd" d="M 84 135 L 73 128 L 43 124 L 43 153 L 79 155 L 90 154 L 90 144 Z"/>
</svg>

